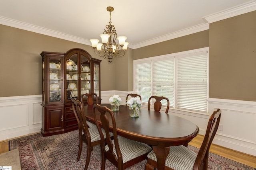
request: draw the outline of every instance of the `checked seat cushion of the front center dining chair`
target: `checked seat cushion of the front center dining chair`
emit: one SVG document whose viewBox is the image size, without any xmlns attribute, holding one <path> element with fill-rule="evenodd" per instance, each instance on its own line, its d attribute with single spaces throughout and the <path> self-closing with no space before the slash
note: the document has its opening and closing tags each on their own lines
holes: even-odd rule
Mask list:
<svg viewBox="0 0 256 170">
<path fill-rule="evenodd" d="M 137 141 L 132 141 L 130 139 L 118 136 L 119 147 L 123 156 L 123 163 L 128 162 L 142 154 L 150 152 L 152 149 L 145 143 L 140 143 Z M 114 140 L 112 140 L 114 145 Z M 105 147 L 106 150 L 109 150 L 108 145 Z M 116 154 L 116 147 L 113 148 L 114 154 Z"/>
</svg>

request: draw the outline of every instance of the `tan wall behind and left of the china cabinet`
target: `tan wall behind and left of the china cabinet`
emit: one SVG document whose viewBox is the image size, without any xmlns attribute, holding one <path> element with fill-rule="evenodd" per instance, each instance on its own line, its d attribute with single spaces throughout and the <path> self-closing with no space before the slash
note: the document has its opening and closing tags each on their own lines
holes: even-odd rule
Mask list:
<svg viewBox="0 0 256 170">
<path fill-rule="evenodd" d="M 113 65 L 88 45 L 0 25 L 0 97 L 42 94 L 42 51 L 82 48 L 102 60 L 101 90 L 114 90 Z"/>
</svg>

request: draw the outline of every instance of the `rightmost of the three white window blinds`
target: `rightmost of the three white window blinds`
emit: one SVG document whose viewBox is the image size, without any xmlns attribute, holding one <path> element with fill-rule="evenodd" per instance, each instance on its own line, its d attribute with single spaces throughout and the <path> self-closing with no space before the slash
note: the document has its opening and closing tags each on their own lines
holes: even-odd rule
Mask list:
<svg viewBox="0 0 256 170">
<path fill-rule="evenodd" d="M 192 111 L 207 111 L 207 53 L 176 57 L 176 107 Z"/>
</svg>

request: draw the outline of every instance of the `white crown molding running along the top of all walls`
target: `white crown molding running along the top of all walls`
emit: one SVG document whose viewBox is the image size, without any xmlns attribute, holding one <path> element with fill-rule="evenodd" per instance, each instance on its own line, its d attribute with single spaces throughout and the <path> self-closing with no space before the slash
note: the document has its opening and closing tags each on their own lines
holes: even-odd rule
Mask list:
<svg viewBox="0 0 256 170">
<path fill-rule="evenodd" d="M 189 35 L 192 33 L 197 33 L 200 31 L 204 31 L 209 29 L 209 23 L 215 22 L 215 21 L 220 21 L 220 20 L 224 20 L 226 18 L 230 18 L 233 16 L 238 16 L 241 14 L 245 14 L 247 12 L 252 12 L 256 10 L 256 0 L 252 0 L 246 4 L 240 5 L 240 6 L 236 6 L 235 8 L 230 8 L 228 10 L 222 11 L 222 12 L 218 12 L 216 14 L 212 14 L 210 16 L 205 16 L 202 19 L 205 21 L 205 23 L 193 26 L 193 27 L 189 27 L 186 29 L 182 29 L 180 31 L 176 31 L 174 33 L 170 33 L 170 34 L 166 34 L 160 37 L 156 37 L 154 39 L 149 39 L 146 41 L 143 41 L 141 43 L 137 43 L 137 44 L 129 44 L 129 48 L 131 49 L 137 49 L 140 47 L 145 47 L 148 45 L 152 45 L 152 44 L 156 44 L 156 43 L 160 43 L 163 41 L 168 41 L 170 39 L 174 39 L 174 38 L 178 38 L 178 37 L 182 37 L 185 35 Z M 2 25 L 7 25 L 10 27 L 15 27 L 15 28 L 19 28 L 19 29 L 24 29 L 27 31 L 32 31 L 35 33 L 40 33 L 43 35 L 48 35 L 51 37 L 56 37 L 56 38 L 60 38 L 60 39 L 65 39 L 68 41 L 73 41 L 76 43 L 81 43 L 84 45 L 91 45 L 90 41 L 88 39 L 83 39 L 80 37 L 75 37 L 72 35 L 68 35 L 65 33 L 61 33 L 58 31 L 54 31 L 51 29 L 46 29 L 44 27 L 38 27 L 36 25 L 31 25 L 28 23 L 24 23 L 21 21 L 17 21 L 17 20 L 12 20 L 10 18 L 5 18 L 3 16 L 0 16 L 0 24 Z"/>
</svg>

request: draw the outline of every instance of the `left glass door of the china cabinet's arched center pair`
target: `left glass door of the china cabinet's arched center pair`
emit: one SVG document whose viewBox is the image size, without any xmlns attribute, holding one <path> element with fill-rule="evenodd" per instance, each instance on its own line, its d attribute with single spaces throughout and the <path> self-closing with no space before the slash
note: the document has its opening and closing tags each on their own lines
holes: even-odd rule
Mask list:
<svg viewBox="0 0 256 170">
<path fill-rule="evenodd" d="M 79 69 L 78 54 L 74 54 L 66 60 L 66 100 L 78 98 Z"/>
</svg>

